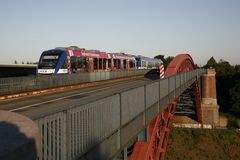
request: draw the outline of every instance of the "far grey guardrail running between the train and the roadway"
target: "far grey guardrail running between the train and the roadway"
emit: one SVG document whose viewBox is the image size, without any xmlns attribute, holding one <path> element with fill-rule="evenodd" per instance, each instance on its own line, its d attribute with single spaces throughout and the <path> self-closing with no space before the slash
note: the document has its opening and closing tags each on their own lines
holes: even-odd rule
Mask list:
<svg viewBox="0 0 240 160">
<path fill-rule="evenodd" d="M 29 76 L 0 78 L 0 96 L 42 90 L 84 82 L 143 75 L 149 70 L 83 72 L 73 75 Z"/>
</svg>

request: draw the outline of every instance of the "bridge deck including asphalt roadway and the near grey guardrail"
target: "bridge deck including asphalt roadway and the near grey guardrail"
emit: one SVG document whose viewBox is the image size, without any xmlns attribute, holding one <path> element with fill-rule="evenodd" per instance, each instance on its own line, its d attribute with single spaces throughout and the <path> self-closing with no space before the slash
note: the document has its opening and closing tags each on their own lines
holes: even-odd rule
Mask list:
<svg viewBox="0 0 240 160">
<path fill-rule="evenodd" d="M 142 78 L 2 100 L 0 109 L 15 110 L 38 124 L 40 159 L 109 159 L 202 73 L 191 71 L 164 80 Z M 25 108 L 16 110 L 19 107 Z"/>
</svg>

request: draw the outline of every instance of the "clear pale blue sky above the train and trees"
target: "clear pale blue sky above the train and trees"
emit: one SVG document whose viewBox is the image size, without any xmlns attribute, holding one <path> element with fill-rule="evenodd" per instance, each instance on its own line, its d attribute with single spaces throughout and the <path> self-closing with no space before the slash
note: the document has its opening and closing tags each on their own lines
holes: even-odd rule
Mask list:
<svg viewBox="0 0 240 160">
<path fill-rule="evenodd" d="M 240 64 L 240 0 L 0 1 L 0 64 L 66 46 Z"/>
</svg>

